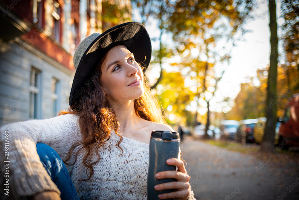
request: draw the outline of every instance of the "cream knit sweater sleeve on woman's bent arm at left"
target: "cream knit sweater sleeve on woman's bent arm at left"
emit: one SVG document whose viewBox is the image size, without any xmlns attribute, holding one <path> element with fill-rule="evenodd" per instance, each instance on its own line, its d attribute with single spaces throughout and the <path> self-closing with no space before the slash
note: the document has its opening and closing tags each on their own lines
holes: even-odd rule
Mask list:
<svg viewBox="0 0 299 200">
<path fill-rule="evenodd" d="M 0 163 L 9 166 L 9 171 L 5 176 L 5 179 L 9 180 L 9 195 L 22 199 L 24 196 L 32 196 L 43 191 L 56 191 L 60 194 L 39 160 L 36 143 L 42 142 L 54 150 L 59 149 L 59 142 L 63 143 L 62 133 L 67 130 L 69 118 L 70 116 L 62 115 L 45 120 L 17 122 L 1 127 L 0 149 L 4 150 L 5 147 L 8 147 L 8 149 L 6 148 L 8 155 L 4 157 L 4 153 L 2 153 Z M 3 167 L 1 172 L 4 174 L 7 172 L 6 169 Z M 1 180 L 3 181 L 2 178 Z M 3 183 L 0 184 L 3 185 Z"/>
</svg>

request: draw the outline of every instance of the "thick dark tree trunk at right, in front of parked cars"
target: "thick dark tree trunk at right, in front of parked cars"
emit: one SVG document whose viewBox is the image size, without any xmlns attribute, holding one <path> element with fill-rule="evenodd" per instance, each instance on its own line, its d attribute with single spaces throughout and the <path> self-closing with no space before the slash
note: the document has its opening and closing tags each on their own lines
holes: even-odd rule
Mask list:
<svg viewBox="0 0 299 200">
<path fill-rule="evenodd" d="M 270 67 L 268 75 L 267 86 L 267 100 L 266 100 L 266 127 L 263 141 L 261 143 L 261 151 L 271 151 L 274 146 L 274 135 L 276 127 L 276 112 L 277 112 L 277 99 L 276 97 L 276 78 L 277 78 L 277 22 L 276 22 L 276 4 L 274 0 L 269 0 L 269 28 L 270 28 Z"/>
</svg>

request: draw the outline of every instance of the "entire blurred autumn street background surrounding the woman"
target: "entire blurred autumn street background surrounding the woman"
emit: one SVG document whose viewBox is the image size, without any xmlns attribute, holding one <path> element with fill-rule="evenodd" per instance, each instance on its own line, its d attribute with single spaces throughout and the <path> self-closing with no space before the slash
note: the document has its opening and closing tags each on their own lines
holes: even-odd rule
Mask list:
<svg viewBox="0 0 299 200">
<path fill-rule="evenodd" d="M 146 77 L 181 134 L 196 197 L 299 199 L 298 7 L 297 0 L 0 0 L 0 126 L 68 109 L 80 41 L 138 21 L 152 40 Z M 236 193 L 244 177 L 247 190 Z"/>
</svg>

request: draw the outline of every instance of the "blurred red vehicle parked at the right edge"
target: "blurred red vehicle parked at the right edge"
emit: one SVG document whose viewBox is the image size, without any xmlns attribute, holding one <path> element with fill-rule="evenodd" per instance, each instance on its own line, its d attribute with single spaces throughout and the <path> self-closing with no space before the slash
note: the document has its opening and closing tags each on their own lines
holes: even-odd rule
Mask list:
<svg viewBox="0 0 299 200">
<path fill-rule="evenodd" d="M 299 146 L 299 93 L 294 94 L 286 104 L 279 129 L 279 144 L 285 148 Z"/>
</svg>

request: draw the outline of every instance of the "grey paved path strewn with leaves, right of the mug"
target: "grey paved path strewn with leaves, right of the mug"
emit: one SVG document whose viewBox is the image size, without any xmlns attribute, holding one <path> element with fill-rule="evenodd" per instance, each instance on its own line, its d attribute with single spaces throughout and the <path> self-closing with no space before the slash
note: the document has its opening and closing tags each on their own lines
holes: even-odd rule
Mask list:
<svg viewBox="0 0 299 200">
<path fill-rule="evenodd" d="M 183 159 L 197 200 L 299 200 L 298 163 L 274 166 L 271 160 L 230 151 L 229 146 L 227 153 L 222 150 L 198 140 L 184 141 Z"/>
</svg>

